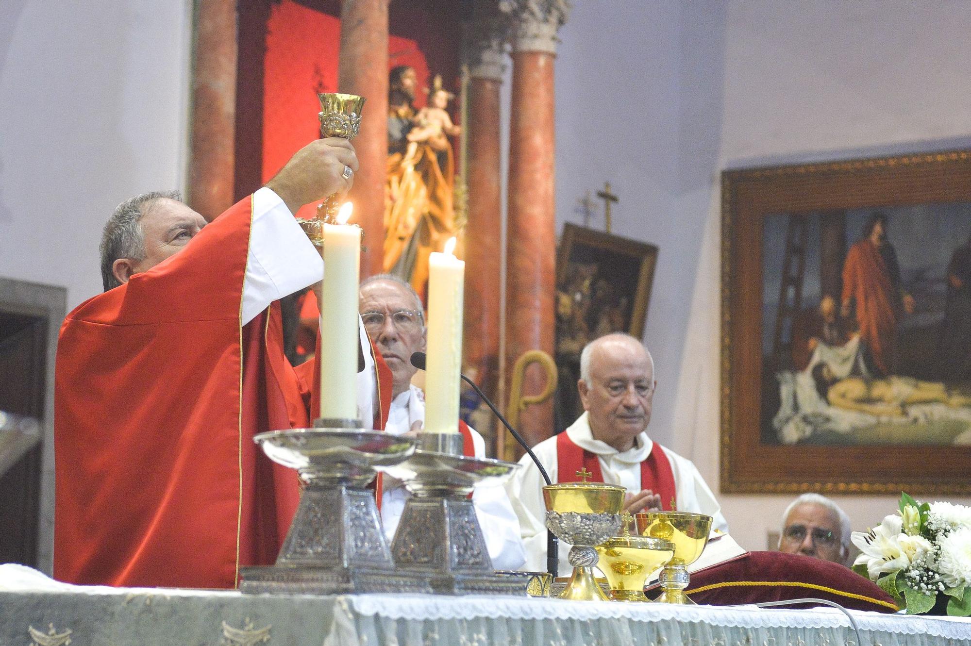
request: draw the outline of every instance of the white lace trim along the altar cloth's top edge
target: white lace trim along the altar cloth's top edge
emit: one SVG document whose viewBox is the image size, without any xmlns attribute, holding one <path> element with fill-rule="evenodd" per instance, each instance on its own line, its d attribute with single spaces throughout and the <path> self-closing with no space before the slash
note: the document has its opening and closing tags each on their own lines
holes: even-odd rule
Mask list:
<svg viewBox="0 0 971 646">
<path fill-rule="evenodd" d="M 498 618 L 518 620 L 628 619 L 636 622 L 704 623 L 729 628 L 850 628 L 836 608 L 780 610 L 755 606 L 666 605 L 616 601 L 566 601 L 551 598 L 421 597 L 362 595 L 348 597 L 352 611 L 363 616 L 404 620 Z M 951 639 L 971 638 L 971 620 L 959 617 L 916 617 L 851 610 L 859 630 L 900 634 L 930 634 Z"/>
</svg>

